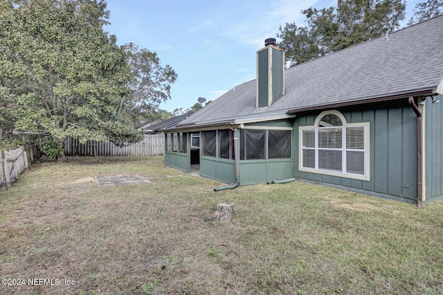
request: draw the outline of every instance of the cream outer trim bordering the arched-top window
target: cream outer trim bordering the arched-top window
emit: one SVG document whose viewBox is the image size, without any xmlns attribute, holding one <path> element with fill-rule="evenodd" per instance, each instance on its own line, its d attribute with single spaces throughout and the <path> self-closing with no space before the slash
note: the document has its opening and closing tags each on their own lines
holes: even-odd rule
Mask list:
<svg viewBox="0 0 443 295">
<path fill-rule="evenodd" d="M 343 124 L 343 128 L 347 127 L 364 127 L 365 130 L 365 174 L 364 175 L 357 175 L 352 173 L 345 173 L 345 172 L 336 172 L 332 170 L 320 170 L 320 169 L 314 169 L 314 168 L 305 168 L 302 167 L 303 165 L 303 146 L 302 146 L 302 140 L 303 140 L 303 130 L 316 130 L 318 129 L 318 124 L 320 123 L 321 118 L 327 114 L 334 114 L 338 116 L 338 118 L 341 119 L 341 122 Z M 317 137 L 317 136 L 316 136 Z M 341 114 L 341 112 L 332 110 L 332 111 L 323 111 L 321 114 L 319 114 L 316 118 L 316 121 L 314 125 L 311 126 L 299 126 L 298 127 L 298 170 L 302 172 L 310 172 L 310 173 L 316 173 L 320 175 L 329 175 L 329 176 L 336 176 L 336 177 L 345 177 L 350 179 L 358 179 L 363 181 L 370 181 L 370 123 L 369 122 L 363 122 L 363 123 L 347 123 L 345 116 Z M 345 141 L 345 134 L 343 135 L 343 141 Z M 317 143 L 316 143 L 317 145 Z M 343 148 L 346 148 L 345 145 L 343 145 Z M 317 157 L 317 155 L 316 155 Z M 343 159 L 345 161 L 345 159 Z M 317 162 L 317 161 L 316 161 Z M 318 163 L 317 165 L 318 166 Z"/>
</svg>

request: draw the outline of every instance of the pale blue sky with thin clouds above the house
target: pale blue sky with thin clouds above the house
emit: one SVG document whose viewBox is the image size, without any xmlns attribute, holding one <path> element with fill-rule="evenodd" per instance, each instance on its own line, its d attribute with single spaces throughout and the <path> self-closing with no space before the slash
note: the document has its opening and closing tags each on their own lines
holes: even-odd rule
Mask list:
<svg viewBox="0 0 443 295">
<path fill-rule="evenodd" d="M 418 0 L 410 0 L 406 19 Z M 280 26 L 305 26 L 301 10 L 336 6 L 334 0 L 107 0 L 119 45 L 132 42 L 155 51 L 177 73 L 171 99 L 160 109 L 188 109 L 199 97 L 215 100 L 255 79 L 256 51 L 276 38 Z"/>
</svg>

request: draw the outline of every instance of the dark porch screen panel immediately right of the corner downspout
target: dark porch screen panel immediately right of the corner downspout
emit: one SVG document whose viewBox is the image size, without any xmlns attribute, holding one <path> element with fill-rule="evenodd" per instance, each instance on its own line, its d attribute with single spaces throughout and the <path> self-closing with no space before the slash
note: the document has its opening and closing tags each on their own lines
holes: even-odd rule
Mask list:
<svg viewBox="0 0 443 295">
<path fill-rule="evenodd" d="M 266 130 L 240 130 L 240 160 L 264 159 Z"/>
</svg>

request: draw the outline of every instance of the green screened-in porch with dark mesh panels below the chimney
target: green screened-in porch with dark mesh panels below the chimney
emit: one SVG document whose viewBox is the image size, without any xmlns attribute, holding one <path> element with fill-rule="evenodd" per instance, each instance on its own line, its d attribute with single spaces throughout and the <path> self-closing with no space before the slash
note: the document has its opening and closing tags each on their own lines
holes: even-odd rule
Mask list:
<svg viewBox="0 0 443 295">
<path fill-rule="evenodd" d="M 292 129 L 289 120 L 277 120 L 260 125 L 226 125 L 198 132 L 166 133 L 165 165 L 234 183 L 237 162 L 241 185 L 289 178 Z"/>
</svg>

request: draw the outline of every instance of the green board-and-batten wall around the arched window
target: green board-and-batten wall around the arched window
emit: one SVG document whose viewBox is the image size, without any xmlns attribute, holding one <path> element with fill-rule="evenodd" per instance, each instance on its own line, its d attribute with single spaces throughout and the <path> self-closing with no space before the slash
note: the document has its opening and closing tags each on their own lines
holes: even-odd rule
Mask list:
<svg viewBox="0 0 443 295">
<path fill-rule="evenodd" d="M 369 122 L 370 181 L 298 170 L 299 126 L 314 125 L 320 111 L 299 115 L 293 124 L 293 176 L 359 193 L 415 202 L 417 199 L 417 117 L 410 107 L 342 111 L 347 123 Z"/>
</svg>

